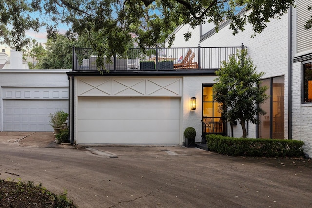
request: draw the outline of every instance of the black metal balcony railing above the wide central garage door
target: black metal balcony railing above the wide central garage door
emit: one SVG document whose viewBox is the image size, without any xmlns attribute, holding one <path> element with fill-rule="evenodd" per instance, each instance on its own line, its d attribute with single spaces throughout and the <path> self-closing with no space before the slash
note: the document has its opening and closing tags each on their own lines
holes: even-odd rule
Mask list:
<svg viewBox="0 0 312 208">
<path fill-rule="evenodd" d="M 246 47 L 131 48 L 123 56 L 104 57 L 89 48 L 73 48 L 73 71 L 177 71 L 219 69 L 221 61 Z"/>
</svg>

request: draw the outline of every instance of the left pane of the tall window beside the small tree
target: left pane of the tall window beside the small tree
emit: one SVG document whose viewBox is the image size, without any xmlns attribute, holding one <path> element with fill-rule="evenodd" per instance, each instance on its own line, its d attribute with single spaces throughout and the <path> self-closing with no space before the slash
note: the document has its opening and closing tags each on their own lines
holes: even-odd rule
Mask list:
<svg viewBox="0 0 312 208">
<path fill-rule="evenodd" d="M 262 80 L 261 86 L 267 85 L 269 88 L 265 92 L 270 95 L 270 79 Z M 269 139 L 270 138 L 270 99 L 267 99 L 260 107 L 266 112 L 265 115 L 259 115 L 259 137 Z"/>
</svg>

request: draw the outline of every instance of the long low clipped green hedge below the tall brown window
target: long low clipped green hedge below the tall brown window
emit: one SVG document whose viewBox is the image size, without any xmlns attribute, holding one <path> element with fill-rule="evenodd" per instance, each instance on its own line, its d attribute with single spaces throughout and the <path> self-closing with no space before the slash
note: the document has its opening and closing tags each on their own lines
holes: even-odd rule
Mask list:
<svg viewBox="0 0 312 208">
<path fill-rule="evenodd" d="M 301 157 L 304 142 L 280 139 L 243 139 L 221 135 L 206 135 L 211 151 L 231 156 Z"/>
</svg>

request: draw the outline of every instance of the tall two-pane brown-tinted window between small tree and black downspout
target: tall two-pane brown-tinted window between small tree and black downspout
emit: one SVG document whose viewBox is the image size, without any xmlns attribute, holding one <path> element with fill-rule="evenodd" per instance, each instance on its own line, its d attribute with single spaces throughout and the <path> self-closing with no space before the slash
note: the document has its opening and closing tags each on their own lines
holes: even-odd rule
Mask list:
<svg viewBox="0 0 312 208">
<path fill-rule="evenodd" d="M 259 116 L 259 138 L 284 139 L 284 76 L 264 79 L 261 85 L 269 87 L 270 98 L 260 106 L 266 115 Z"/>
</svg>

